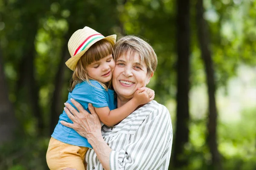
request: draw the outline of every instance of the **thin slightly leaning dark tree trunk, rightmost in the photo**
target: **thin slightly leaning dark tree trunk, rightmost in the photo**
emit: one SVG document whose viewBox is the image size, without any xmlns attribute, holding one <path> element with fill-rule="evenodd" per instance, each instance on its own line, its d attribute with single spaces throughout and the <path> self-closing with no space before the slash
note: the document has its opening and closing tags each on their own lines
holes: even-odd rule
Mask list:
<svg viewBox="0 0 256 170">
<path fill-rule="evenodd" d="M 217 108 L 215 102 L 215 79 L 214 68 L 212 64 L 211 53 L 209 50 L 209 33 L 207 31 L 207 23 L 204 20 L 204 7 L 203 0 L 197 2 L 197 26 L 198 26 L 198 40 L 201 48 L 201 57 L 204 61 L 205 71 L 207 74 L 207 88 L 208 88 L 208 100 L 209 100 L 209 116 L 207 125 L 207 144 L 212 154 L 212 167 L 214 169 L 221 170 L 221 156 L 218 152 L 217 144 Z"/>
</svg>

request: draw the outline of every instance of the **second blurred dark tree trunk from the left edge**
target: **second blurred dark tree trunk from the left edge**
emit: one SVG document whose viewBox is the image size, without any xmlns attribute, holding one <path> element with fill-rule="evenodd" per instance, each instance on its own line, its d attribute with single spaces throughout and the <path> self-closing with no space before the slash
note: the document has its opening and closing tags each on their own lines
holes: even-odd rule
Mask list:
<svg viewBox="0 0 256 170">
<path fill-rule="evenodd" d="M 24 16 L 25 18 L 28 16 Z M 26 44 L 23 47 L 23 56 L 21 59 L 21 62 L 19 64 L 18 68 L 18 80 L 16 84 L 16 94 L 17 98 L 19 98 L 20 95 L 20 90 L 22 88 L 25 89 L 29 101 L 29 105 L 32 108 L 32 115 L 35 116 L 37 120 L 37 130 L 38 130 L 38 135 L 41 136 L 44 131 L 44 120 L 42 116 L 42 111 L 39 105 L 39 86 L 38 82 L 35 79 L 35 36 L 37 34 L 38 30 L 38 24 L 37 20 L 32 20 L 32 19 L 27 19 L 30 20 L 31 22 L 28 24 L 24 25 L 27 26 L 26 30 L 23 31 L 23 37 L 26 37 Z M 26 99 L 22 99 L 26 100 Z"/>
</svg>

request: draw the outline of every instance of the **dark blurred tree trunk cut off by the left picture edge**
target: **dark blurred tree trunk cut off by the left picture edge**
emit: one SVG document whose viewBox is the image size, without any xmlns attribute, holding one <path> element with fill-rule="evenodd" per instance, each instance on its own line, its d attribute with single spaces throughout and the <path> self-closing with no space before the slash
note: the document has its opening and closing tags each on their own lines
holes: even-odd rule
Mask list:
<svg viewBox="0 0 256 170">
<path fill-rule="evenodd" d="M 12 141 L 15 136 L 16 119 L 12 103 L 8 98 L 7 82 L 3 70 L 3 57 L 0 51 L 0 145 Z"/>
</svg>

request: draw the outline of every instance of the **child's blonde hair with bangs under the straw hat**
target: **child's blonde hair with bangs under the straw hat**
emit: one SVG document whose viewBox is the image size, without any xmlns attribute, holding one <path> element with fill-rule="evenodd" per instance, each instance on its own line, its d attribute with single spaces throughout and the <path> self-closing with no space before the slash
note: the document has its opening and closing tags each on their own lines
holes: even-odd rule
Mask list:
<svg viewBox="0 0 256 170">
<path fill-rule="evenodd" d="M 75 86 L 83 81 L 87 81 L 90 85 L 92 85 L 89 79 L 93 79 L 88 75 L 87 66 L 93 62 L 99 61 L 102 58 L 107 57 L 108 55 L 112 54 L 113 56 L 113 47 L 111 42 L 106 39 L 99 40 L 95 42 L 79 59 L 76 65 L 76 69 L 73 72 L 72 79 L 70 82 L 70 92 L 73 91 Z M 114 58 L 113 58 L 114 59 Z M 95 79 L 93 79 L 95 80 Z M 96 80 L 98 81 L 98 80 Z M 99 82 L 106 91 L 111 86 L 111 80 L 109 82 Z"/>
</svg>

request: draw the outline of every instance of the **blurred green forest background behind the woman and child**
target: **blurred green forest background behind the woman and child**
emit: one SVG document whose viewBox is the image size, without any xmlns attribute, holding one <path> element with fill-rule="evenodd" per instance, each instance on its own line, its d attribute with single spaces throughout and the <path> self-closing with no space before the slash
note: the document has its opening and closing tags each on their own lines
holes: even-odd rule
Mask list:
<svg viewBox="0 0 256 170">
<path fill-rule="evenodd" d="M 169 109 L 172 170 L 256 170 L 256 1 L 0 0 L 0 170 L 47 170 L 67 100 L 67 41 L 140 35 Z"/>
</svg>

